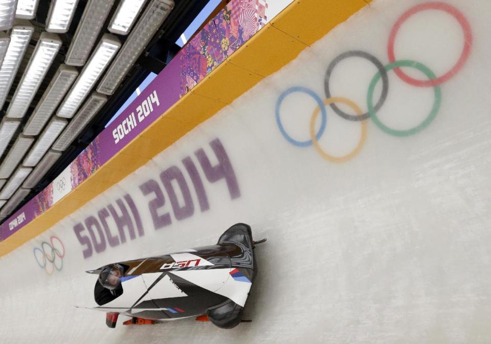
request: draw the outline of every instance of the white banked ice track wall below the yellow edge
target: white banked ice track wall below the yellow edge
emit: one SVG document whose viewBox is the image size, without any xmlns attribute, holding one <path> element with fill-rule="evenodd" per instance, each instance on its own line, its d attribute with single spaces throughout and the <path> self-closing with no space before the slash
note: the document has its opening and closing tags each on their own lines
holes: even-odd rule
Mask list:
<svg viewBox="0 0 491 344">
<path fill-rule="evenodd" d="M 2 257 L 2 341 L 491 341 L 488 13 L 372 2 Z M 213 243 L 236 222 L 268 239 L 252 323 L 111 330 L 74 307 L 91 305 L 83 271 Z"/>
</svg>

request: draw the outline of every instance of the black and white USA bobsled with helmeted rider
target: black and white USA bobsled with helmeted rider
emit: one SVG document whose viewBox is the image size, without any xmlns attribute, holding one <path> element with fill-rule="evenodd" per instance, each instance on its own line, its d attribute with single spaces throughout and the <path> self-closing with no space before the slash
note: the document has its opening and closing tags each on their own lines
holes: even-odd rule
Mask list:
<svg viewBox="0 0 491 344">
<path fill-rule="evenodd" d="M 106 312 L 110 328 L 119 314 L 132 317 L 125 324 L 196 317 L 233 328 L 242 321 L 257 273 L 254 247 L 264 241 L 254 242 L 251 227 L 238 223 L 215 245 L 86 271 L 98 275 L 94 298 L 99 306 L 93 309 Z"/>
</svg>

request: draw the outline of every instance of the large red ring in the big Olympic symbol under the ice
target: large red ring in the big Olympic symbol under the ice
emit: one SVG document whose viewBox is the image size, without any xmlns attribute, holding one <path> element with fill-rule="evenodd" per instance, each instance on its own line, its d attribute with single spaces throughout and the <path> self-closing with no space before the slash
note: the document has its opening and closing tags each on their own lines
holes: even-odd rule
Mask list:
<svg viewBox="0 0 491 344">
<path fill-rule="evenodd" d="M 416 80 L 411 78 L 410 76 L 406 75 L 403 71 L 400 69 L 396 68 L 394 69 L 395 74 L 402 80 L 406 81 L 407 83 L 413 85 L 413 86 L 435 86 L 439 85 L 442 82 L 447 81 L 451 77 L 453 77 L 457 72 L 462 68 L 464 65 L 465 61 L 469 57 L 469 54 L 471 53 L 471 46 L 472 46 L 472 30 L 471 26 L 469 25 L 469 22 L 467 19 L 465 19 L 464 15 L 462 12 L 460 12 L 458 9 L 455 7 L 445 4 L 445 3 L 440 3 L 440 2 L 430 2 L 430 3 L 424 3 L 421 5 L 414 6 L 413 8 L 410 8 L 406 12 L 403 13 L 397 19 L 397 22 L 394 24 L 394 27 L 392 28 L 392 31 L 390 32 L 389 35 L 389 43 L 387 45 L 387 53 L 389 55 L 389 62 L 393 63 L 395 62 L 395 54 L 394 54 L 394 41 L 395 41 L 395 36 L 397 35 L 397 32 L 400 29 L 400 26 L 403 25 L 406 20 L 412 16 L 413 14 L 416 14 L 421 11 L 425 10 L 441 10 L 444 12 L 449 13 L 452 15 L 455 19 L 457 19 L 457 22 L 459 22 L 460 26 L 462 27 L 462 31 L 464 32 L 464 48 L 462 49 L 462 54 L 460 55 L 459 60 L 455 64 L 454 67 L 447 73 L 443 74 L 442 76 L 430 80 Z"/>
</svg>

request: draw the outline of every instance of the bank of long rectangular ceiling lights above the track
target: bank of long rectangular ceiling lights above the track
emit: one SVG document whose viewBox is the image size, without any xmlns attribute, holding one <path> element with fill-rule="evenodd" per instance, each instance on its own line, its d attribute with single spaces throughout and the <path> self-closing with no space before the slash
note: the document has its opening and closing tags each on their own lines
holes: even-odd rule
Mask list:
<svg viewBox="0 0 491 344">
<path fill-rule="evenodd" d="M 65 56 L 65 64 L 55 73 L 23 127 L 22 135 L 16 138 L 6 158 L 0 162 L 0 221 L 27 197 L 30 189 L 53 166 L 61 152 L 97 114 L 107 101 L 105 95 L 115 92 L 174 6 L 172 0 L 150 0 L 135 24 L 147 0 L 122 0 L 107 29 L 119 35 L 129 33 L 129 36 L 121 45 L 116 36 L 104 34 L 89 57 L 114 1 L 88 0 Z M 7 0 L 3 3 L 0 6 L 0 30 L 10 30 L 10 35 L 0 35 L 0 61 L 3 61 L 0 67 L 0 108 L 9 94 L 34 32 L 34 27 L 25 19 L 35 17 L 38 0 Z M 46 20 L 47 32 L 39 36 L 5 117 L 0 122 L 0 156 L 17 132 L 21 119 L 51 67 L 62 45 L 57 33 L 69 30 L 77 3 L 78 0 L 51 2 Z M 79 72 L 72 66 L 83 68 Z M 97 91 L 89 95 L 106 69 Z"/>
</svg>

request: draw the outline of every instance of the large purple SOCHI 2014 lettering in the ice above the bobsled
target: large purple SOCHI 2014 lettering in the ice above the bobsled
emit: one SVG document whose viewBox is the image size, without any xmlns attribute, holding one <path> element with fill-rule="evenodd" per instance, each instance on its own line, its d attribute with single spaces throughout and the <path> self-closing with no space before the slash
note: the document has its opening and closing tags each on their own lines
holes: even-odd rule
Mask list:
<svg viewBox="0 0 491 344">
<path fill-rule="evenodd" d="M 224 180 L 230 199 L 240 197 L 237 178 L 224 146 L 219 139 L 211 141 L 210 146 L 218 161 L 215 165 L 212 165 L 203 148 L 194 152 L 203 170 L 204 178 L 191 156 L 187 156 L 181 160 L 181 165 L 169 166 L 159 174 L 158 178 L 150 178 L 139 185 L 139 190 L 148 202 L 146 206 L 151 214 L 154 230 L 167 227 L 173 221 L 182 221 L 193 216 L 197 206 L 193 202 L 191 192 L 195 193 L 201 212 L 210 209 L 204 180 L 210 184 Z M 184 178 L 185 173 L 191 179 L 192 185 L 188 185 Z M 181 196 L 181 200 L 184 200 L 181 202 L 183 204 L 179 202 L 178 195 Z M 114 221 L 116 228 L 109 226 L 108 219 Z M 98 209 L 97 213 L 87 216 L 77 223 L 73 230 L 83 247 L 83 257 L 87 259 L 94 252 L 101 253 L 108 247 L 126 243 L 128 237 L 129 240 L 135 240 L 137 233 L 139 237 L 144 236 L 147 228 L 143 226 L 137 203 L 126 193 Z"/>
</svg>

